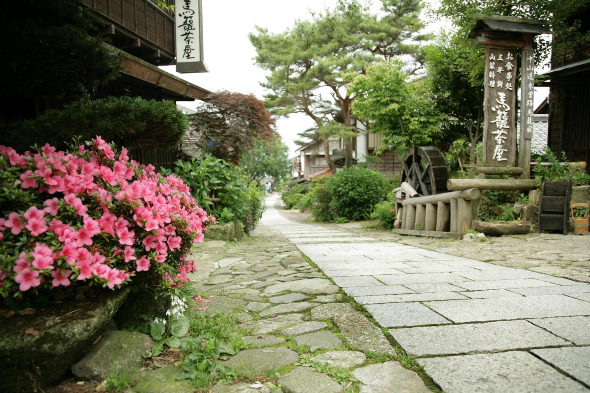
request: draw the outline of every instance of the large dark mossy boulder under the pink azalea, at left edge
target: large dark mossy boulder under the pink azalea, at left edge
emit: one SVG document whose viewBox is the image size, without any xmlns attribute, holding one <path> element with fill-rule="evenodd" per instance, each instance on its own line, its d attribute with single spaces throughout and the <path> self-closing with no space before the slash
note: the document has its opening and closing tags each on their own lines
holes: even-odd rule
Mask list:
<svg viewBox="0 0 590 393">
<path fill-rule="evenodd" d="M 124 288 L 89 304 L 52 304 L 35 315 L 0 320 L 0 386 L 31 392 L 60 382 L 86 353 L 129 294 Z"/>
</svg>

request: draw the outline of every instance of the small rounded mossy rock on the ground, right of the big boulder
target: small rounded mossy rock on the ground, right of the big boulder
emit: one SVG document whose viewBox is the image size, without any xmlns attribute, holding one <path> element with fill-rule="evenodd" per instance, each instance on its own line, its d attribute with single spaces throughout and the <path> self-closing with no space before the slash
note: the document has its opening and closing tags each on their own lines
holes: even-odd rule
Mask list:
<svg viewBox="0 0 590 393">
<path fill-rule="evenodd" d="M 143 333 L 104 332 L 90 352 L 72 365 L 72 373 L 81 379 L 104 379 L 113 369 L 132 367 L 152 346 L 152 339 Z"/>
</svg>

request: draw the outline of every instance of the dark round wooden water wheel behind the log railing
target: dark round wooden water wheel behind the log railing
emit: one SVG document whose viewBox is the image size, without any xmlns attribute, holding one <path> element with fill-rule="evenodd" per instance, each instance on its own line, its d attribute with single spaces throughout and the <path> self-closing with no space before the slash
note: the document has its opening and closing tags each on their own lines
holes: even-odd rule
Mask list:
<svg viewBox="0 0 590 393">
<path fill-rule="evenodd" d="M 447 192 L 447 160 L 434 146 L 414 146 L 402 161 L 399 182 L 408 182 L 422 196 Z"/>
</svg>

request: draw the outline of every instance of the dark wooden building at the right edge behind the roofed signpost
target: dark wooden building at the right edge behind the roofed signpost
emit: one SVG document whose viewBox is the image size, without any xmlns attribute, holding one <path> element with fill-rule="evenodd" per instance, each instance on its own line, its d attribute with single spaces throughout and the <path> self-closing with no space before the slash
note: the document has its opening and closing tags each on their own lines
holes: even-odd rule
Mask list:
<svg viewBox="0 0 590 393">
<path fill-rule="evenodd" d="M 590 30 L 590 6 L 571 18 L 582 22 L 581 31 Z M 553 56 L 551 66 L 544 73 L 550 87 L 548 145 L 569 161 L 590 162 L 590 45 L 568 58 Z"/>
</svg>

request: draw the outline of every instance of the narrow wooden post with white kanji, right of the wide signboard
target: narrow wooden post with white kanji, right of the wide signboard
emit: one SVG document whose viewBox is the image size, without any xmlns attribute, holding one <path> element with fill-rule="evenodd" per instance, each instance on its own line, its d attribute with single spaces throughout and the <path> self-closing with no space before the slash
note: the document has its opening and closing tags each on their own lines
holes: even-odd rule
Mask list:
<svg viewBox="0 0 590 393">
<path fill-rule="evenodd" d="M 535 95 L 535 54 L 533 36 L 522 34 L 525 46 L 522 48 L 520 65 L 520 139 L 518 165 L 523 169 L 522 179 L 530 179 L 530 139 L 533 136 L 533 96 Z"/>
</svg>

